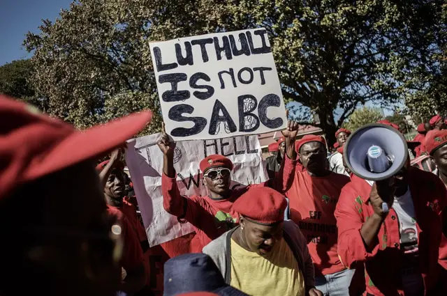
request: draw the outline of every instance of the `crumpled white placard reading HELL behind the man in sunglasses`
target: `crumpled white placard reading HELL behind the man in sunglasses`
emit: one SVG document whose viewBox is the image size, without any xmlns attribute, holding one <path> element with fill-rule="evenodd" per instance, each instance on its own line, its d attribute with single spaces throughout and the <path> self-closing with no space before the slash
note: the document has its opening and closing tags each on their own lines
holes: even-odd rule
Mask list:
<svg viewBox="0 0 447 296">
<path fill-rule="evenodd" d="M 131 140 L 126 151 L 126 163 L 151 247 L 193 231 L 191 224 L 180 223 L 177 217 L 168 214 L 163 208 L 163 153 L 156 145 L 160 137 L 161 134 L 152 134 Z M 224 155 L 233 162 L 231 187 L 260 183 L 268 179 L 257 136 L 181 141 L 177 142 L 174 153 L 180 194 L 207 195 L 199 162 L 212 154 Z"/>
</svg>

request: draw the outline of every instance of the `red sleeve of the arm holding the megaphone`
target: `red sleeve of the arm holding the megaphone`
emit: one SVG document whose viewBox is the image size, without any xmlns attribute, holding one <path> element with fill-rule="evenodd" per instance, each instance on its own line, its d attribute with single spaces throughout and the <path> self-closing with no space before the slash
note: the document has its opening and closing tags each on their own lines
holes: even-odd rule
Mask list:
<svg viewBox="0 0 447 296">
<path fill-rule="evenodd" d="M 375 256 L 379 251 L 378 243 L 372 251 L 366 250 L 360 234 L 364 223 L 363 217 L 353 203 L 356 196 L 359 194 L 351 186 L 351 183 L 344 186 L 334 213 L 338 228 L 338 255 L 342 264 L 348 268 L 352 268 L 356 262 L 363 262 Z"/>
</svg>

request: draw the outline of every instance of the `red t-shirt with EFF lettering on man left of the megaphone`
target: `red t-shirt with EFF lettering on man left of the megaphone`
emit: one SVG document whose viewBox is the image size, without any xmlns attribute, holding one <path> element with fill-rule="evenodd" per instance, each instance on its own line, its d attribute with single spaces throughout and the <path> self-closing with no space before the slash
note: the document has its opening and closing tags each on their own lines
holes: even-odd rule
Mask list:
<svg viewBox="0 0 447 296">
<path fill-rule="evenodd" d="M 333 274 L 346 268 L 337 255 L 337 220 L 335 205 L 342 187 L 349 177 L 330 172 L 328 176 L 310 176 L 298 164 L 289 199 L 291 219 L 300 226 L 308 242 L 309 253 L 314 262 L 315 273 Z"/>
</svg>

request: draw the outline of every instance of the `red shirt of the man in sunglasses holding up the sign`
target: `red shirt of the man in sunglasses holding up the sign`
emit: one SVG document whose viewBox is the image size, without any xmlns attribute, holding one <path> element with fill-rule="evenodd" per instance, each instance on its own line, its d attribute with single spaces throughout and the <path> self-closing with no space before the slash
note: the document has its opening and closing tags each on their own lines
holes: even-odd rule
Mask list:
<svg viewBox="0 0 447 296">
<path fill-rule="evenodd" d="M 239 196 L 253 187 L 272 187 L 279 192 L 285 192 L 293 180 L 295 162 L 284 157 L 283 165 L 274 179 L 261 184 L 248 185 L 236 188 L 231 192 L 230 198 L 214 200 L 210 196 L 180 195 L 175 178 L 168 178 L 163 174 L 161 189 L 163 192 L 163 207 L 166 212 L 182 218 L 193 225 L 200 241 L 200 249 L 212 240 L 232 228 L 239 215 L 233 210 L 233 203 Z"/>
</svg>

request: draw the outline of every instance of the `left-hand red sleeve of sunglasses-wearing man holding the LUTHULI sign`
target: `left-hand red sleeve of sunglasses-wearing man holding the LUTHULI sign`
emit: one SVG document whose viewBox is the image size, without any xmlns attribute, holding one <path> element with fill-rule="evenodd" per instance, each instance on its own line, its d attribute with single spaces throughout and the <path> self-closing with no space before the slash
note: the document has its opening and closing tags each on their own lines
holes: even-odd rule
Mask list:
<svg viewBox="0 0 447 296">
<path fill-rule="evenodd" d="M 193 220 L 196 219 L 196 215 L 194 213 L 198 212 L 198 205 L 193 199 L 180 194 L 175 178 L 169 178 L 163 173 L 161 192 L 163 194 L 163 208 L 166 212 L 195 224 Z"/>
</svg>

